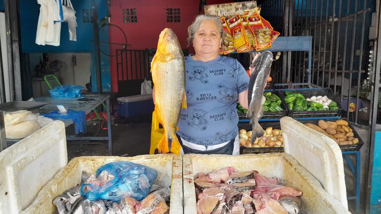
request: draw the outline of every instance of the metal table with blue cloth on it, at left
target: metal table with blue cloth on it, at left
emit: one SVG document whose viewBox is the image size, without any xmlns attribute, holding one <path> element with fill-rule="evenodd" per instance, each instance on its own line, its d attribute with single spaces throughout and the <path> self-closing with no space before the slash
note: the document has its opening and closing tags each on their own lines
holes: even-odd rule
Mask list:
<svg viewBox="0 0 381 214">
<path fill-rule="evenodd" d="M 47 105 L 41 107 L 41 109 L 46 111 L 57 111 L 57 105 L 63 105 L 66 110 L 73 111 L 85 111 L 86 114 L 91 113 L 96 107 L 102 105 L 106 102 L 107 106 L 107 136 L 66 136 L 67 140 L 107 140 L 108 141 L 108 152 L 112 155 L 112 140 L 111 140 L 111 104 L 110 95 L 108 94 L 83 94 L 84 98 L 91 98 L 94 100 L 90 101 L 80 101 L 78 98 L 52 98 L 52 97 L 37 97 L 35 98 L 38 102 L 46 102 Z M 65 121 L 64 121 L 65 122 Z M 66 121 L 65 126 L 69 125 Z"/>
</svg>

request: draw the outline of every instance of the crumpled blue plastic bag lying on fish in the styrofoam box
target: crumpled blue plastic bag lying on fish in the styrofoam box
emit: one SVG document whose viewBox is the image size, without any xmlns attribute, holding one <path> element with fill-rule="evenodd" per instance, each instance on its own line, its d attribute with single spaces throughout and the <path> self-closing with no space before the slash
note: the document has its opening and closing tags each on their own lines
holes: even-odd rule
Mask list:
<svg viewBox="0 0 381 214">
<path fill-rule="evenodd" d="M 155 169 L 128 161 L 111 162 L 98 168 L 95 173 L 97 179 L 102 171 L 107 171 L 114 178 L 102 184 L 82 184 L 82 196 L 91 201 L 102 199 L 119 202 L 125 197 L 141 201 L 157 178 Z"/>
</svg>

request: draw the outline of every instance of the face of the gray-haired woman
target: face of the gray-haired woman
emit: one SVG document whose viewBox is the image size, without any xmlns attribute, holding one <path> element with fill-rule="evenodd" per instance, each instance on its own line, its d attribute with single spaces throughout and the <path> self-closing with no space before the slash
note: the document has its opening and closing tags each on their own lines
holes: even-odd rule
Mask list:
<svg viewBox="0 0 381 214">
<path fill-rule="evenodd" d="M 218 54 L 222 38 L 220 30 L 212 20 L 202 21 L 193 37 L 193 47 L 196 54 Z"/>
</svg>

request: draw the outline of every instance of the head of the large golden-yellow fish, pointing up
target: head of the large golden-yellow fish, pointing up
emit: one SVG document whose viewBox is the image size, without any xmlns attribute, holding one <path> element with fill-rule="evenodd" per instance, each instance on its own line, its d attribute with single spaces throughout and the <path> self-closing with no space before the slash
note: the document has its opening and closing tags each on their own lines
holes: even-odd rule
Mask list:
<svg viewBox="0 0 381 214">
<path fill-rule="evenodd" d="M 159 36 L 156 57 L 158 57 L 160 61 L 166 62 L 181 56 L 184 57 L 184 54 L 175 32 L 170 28 L 165 28 Z"/>
</svg>

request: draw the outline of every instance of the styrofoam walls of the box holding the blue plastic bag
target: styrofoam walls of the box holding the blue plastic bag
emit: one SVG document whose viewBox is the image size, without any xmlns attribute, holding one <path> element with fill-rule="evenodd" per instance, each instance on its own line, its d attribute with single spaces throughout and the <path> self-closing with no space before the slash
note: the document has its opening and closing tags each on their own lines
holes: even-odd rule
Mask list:
<svg viewBox="0 0 381 214">
<path fill-rule="evenodd" d="M 33 204 L 20 214 L 53 214 L 57 209 L 51 201 L 66 189 L 80 184 L 82 171 L 95 173 L 99 167 L 114 161 L 130 161 L 156 169 L 158 176 L 155 184 L 162 187 L 171 186 L 169 214 L 183 213 L 182 159 L 174 154 L 158 154 L 135 157 L 91 156 L 74 158 L 44 186 Z"/>
</svg>

